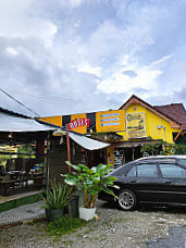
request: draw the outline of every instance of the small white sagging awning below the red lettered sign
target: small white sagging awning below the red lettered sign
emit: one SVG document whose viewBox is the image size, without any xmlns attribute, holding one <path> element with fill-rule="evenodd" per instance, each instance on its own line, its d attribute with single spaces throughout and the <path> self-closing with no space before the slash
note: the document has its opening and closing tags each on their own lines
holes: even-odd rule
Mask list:
<svg viewBox="0 0 186 248">
<path fill-rule="evenodd" d="M 70 137 L 77 142 L 80 147 L 87 150 L 98 150 L 106 147 L 109 147 L 110 144 L 101 142 L 91 138 L 87 138 L 82 135 L 77 135 L 75 133 L 70 132 Z"/>
</svg>

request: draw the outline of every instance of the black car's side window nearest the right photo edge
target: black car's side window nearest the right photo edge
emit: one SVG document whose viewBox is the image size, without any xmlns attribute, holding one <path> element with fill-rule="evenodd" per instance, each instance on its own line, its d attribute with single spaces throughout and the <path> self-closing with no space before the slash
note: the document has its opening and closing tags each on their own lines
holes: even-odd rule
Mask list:
<svg viewBox="0 0 186 248">
<path fill-rule="evenodd" d="M 179 177 L 186 178 L 186 170 L 175 164 L 160 164 L 160 170 L 163 177 Z"/>
</svg>

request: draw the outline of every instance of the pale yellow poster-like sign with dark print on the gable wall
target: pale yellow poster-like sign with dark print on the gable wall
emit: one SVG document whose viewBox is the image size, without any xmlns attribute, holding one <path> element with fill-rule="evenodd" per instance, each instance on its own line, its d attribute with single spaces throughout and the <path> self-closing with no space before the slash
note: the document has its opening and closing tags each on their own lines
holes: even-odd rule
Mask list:
<svg viewBox="0 0 186 248">
<path fill-rule="evenodd" d="M 126 128 L 128 138 L 144 138 L 146 134 L 145 113 L 127 113 Z"/>
</svg>

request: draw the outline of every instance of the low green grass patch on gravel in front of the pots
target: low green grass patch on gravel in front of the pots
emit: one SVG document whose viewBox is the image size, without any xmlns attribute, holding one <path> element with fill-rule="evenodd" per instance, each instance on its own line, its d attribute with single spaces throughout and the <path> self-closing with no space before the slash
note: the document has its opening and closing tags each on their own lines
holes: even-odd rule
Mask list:
<svg viewBox="0 0 186 248">
<path fill-rule="evenodd" d="M 61 236 L 70 232 L 75 232 L 77 228 L 83 227 L 87 224 L 77 218 L 71 216 L 57 216 L 54 221 L 47 225 L 47 232 L 54 236 Z"/>
</svg>

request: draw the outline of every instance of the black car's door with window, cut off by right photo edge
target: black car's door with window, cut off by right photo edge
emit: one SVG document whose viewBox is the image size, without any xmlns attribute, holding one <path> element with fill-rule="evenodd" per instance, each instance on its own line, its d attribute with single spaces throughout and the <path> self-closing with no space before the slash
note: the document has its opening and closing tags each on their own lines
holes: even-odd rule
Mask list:
<svg viewBox="0 0 186 248">
<path fill-rule="evenodd" d="M 174 163 L 159 163 L 162 195 L 172 204 L 186 204 L 186 169 Z"/>
</svg>

